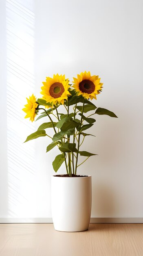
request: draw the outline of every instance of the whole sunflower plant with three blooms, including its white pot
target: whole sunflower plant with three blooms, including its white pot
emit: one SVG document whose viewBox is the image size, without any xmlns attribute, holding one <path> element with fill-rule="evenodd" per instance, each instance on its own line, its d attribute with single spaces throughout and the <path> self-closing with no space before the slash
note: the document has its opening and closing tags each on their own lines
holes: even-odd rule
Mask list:
<svg viewBox="0 0 143 256">
<path fill-rule="evenodd" d="M 53 78 L 46 77 L 41 88 L 42 99 L 36 99 L 32 94 L 23 109 L 26 112 L 25 118 L 29 117 L 32 122 L 38 114 L 40 115 L 37 120 L 43 117 L 48 119 L 26 141 L 48 136 L 52 142 L 47 146 L 46 152 L 55 146 L 59 149 L 59 154 L 53 161 L 54 171 L 57 173 L 59 167 L 65 164 L 65 174 L 54 175 L 51 184 L 52 217 L 58 231 L 88 229 L 91 214 L 91 176 L 77 175 L 77 168 L 89 157 L 97 154 L 81 151 L 80 146 L 85 137 L 94 136 L 85 132 L 96 121 L 92 115 L 117 117 L 105 108 L 97 108 L 90 101 L 97 99 L 96 95 L 102 91 L 103 83 L 100 83 L 99 76 L 91 76 L 90 72 L 85 71 L 73 80 L 71 85 L 65 75 L 54 74 Z M 61 105 L 64 108 L 62 113 L 61 108 L 60 112 L 58 109 Z M 53 128 L 53 137 L 48 135 L 49 128 Z M 81 163 L 79 155 L 86 157 Z"/>
</svg>

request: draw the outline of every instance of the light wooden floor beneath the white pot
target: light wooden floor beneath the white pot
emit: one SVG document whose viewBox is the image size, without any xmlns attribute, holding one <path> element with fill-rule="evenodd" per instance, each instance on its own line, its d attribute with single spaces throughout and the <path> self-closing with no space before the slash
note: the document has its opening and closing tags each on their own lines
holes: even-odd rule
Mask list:
<svg viewBox="0 0 143 256">
<path fill-rule="evenodd" d="M 90 224 L 84 232 L 53 224 L 0 224 L 0 256 L 143 256 L 143 224 Z"/>
</svg>

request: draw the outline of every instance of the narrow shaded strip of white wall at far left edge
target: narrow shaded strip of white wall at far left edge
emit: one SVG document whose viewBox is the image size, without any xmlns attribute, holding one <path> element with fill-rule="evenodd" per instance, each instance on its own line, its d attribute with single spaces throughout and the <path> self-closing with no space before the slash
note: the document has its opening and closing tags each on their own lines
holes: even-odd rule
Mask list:
<svg viewBox="0 0 143 256">
<path fill-rule="evenodd" d="M 7 87 L 6 87 L 6 11 L 0 1 L 0 217 L 7 217 Z"/>
</svg>

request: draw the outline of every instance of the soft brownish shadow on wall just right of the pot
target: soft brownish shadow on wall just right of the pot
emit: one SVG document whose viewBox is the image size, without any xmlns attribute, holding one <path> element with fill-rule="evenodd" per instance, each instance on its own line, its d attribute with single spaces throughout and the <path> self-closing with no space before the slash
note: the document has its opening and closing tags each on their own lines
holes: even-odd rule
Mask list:
<svg viewBox="0 0 143 256">
<path fill-rule="evenodd" d="M 114 191 L 107 184 L 98 183 L 92 187 L 92 211 L 96 215 L 94 217 L 114 217 L 116 212 L 116 202 L 117 200 Z"/>
</svg>

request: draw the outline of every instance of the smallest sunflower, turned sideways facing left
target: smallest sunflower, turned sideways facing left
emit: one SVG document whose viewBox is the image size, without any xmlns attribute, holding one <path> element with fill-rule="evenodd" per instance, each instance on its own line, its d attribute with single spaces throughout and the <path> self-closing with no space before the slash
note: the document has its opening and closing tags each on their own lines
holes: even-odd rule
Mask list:
<svg viewBox="0 0 143 256">
<path fill-rule="evenodd" d="M 22 110 L 26 113 L 26 116 L 24 118 L 30 117 L 30 120 L 33 122 L 35 119 L 35 116 L 38 112 L 38 103 L 36 102 L 35 96 L 32 94 L 32 96 L 26 98 L 27 103 Z"/>
</svg>

